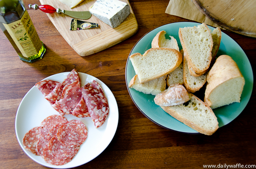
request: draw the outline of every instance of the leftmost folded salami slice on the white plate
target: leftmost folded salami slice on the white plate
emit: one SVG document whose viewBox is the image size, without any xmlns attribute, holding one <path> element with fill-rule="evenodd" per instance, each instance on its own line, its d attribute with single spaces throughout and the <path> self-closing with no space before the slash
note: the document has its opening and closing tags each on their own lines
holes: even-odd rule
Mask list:
<svg viewBox="0 0 256 169">
<path fill-rule="evenodd" d="M 43 93 L 43 96 L 47 96 L 53 89 L 59 84 L 59 82 L 53 80 L 43 80 L 36 83 L 36 87 Z"/>
</svg>

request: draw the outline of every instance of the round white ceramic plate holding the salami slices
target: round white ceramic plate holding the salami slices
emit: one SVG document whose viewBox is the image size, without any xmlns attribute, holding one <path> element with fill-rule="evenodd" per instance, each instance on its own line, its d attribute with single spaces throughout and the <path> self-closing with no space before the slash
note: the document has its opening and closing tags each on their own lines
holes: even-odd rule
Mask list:
<svg viewBox="0 0 256 169">
<path fill-rule="evenodd" d="M 62 82 L 68 74 L 69 72 L 59 73 L 47 77 L 43 80 L 48 79 L 57 82 Z M 117 101 L 113 93 L 107 87 L 106 84 L 101 82 L 96 77 L 93 77 L 85 73 L 79 73 L 79 76 L 81 79 L 82 86 L 84 86 L 88 82 L 91 83 L 93 80 L 96 80 L 96 82 L 98 82 L 103 88 L 105 96 L 107 97 L 110 110 L 107 120 L 101 127 L 95 128 L 90 117 L 77 118 L 73 115 L 64 115 L 64 117 L 68 120 L 76 119 L 83 122 L 88 129 L 88 137 L 86 138 L 85 142 L 80 146 L 78 153 L 69 163 L 59 166 L 48 164 L 44 161 L 44 159 L 41 156 L 32 154 L 30 151 L 25 149 L 22 143 L 24 135 L 30 129 L 39 126 L 43 119 L 54 114 L 59 115 L 59 113 L 56 110 L 54 110 L 49 104 L 49 102 L 43 97 L 43 94 L 37 89 L 37 87 L 32 87 L 27 92 L 25 97 L 22 99 L 20 106 L 17 110 L 15 130 L 16 137 L 23 151 L 31 159 L 33 159 L 35 162 L 39 164 L 57 169 L 73 168 L 85 164 L 91 161 L 92 159 L 96 158 L 99 154 L 101 154 L 101 152 L 103 152 L 107 148 L 107 146 L 112 141 L 112 138 L 116 133 L 119 114 Z"/>
</svg>

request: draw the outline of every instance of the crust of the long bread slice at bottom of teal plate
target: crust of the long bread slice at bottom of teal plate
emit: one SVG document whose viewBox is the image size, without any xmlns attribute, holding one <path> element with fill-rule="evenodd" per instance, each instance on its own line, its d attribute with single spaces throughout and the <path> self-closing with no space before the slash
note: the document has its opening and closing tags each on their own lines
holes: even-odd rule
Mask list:
<svg viewBox="0 0 256 169">
<path fill-rule="evenodd" d="M 198 97 L 196 97 L 195 95 L 193 95 L 192 93 L 189 93 L 190 97 L 193 97 L 197 100 L 197 102 L 200 102 L 203 106 L 205 106 L 207 109 L 208 109 L 208 112 L 213 114 L 215 117 L 214 120 L 217 120 L 217 117 L 215 116 L 215 114 L 213 113 L 213 110 L 208 106 L 206 105 L 202 100 L 200 100 Z M 212 135 L 213 133 L 216 132 L 216 130 L 219 128 L 218 125 L 216 126 L 213 126 L 213 129 L 212 130 L 208 130 L 208 129 L 205 129 L 205 128 L 202 128 L 200 126 L 198 126 L 196 123 L 182 117 L 178 112 L 176 112 L 175 110 L 172 109 L 172 107 L 161 107 L 166 113 L 170 114 L 173 118 L 177 119 L 178 121 L 180 121 L 181 123 L 184 123 L 185 125 L 187 125 L 188 127 L 196 130 L 197 132 L 199 133 L 202 133 L 202 134 L 205 134 L 205 135 Z M 219 124 L 219 123 L 218 123 Z"/>
</svg>

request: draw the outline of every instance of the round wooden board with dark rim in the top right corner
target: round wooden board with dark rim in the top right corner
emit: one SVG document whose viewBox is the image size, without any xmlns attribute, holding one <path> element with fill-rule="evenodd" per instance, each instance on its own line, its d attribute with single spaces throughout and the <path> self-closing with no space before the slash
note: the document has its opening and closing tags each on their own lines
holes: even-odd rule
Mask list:
<svg viewBox="0 0 256 169">
<path fill-rule="evenodd" d="M 204 15 L 229 31 L 256 37 L 256 0 L 192 0 Z"/>
</svg>

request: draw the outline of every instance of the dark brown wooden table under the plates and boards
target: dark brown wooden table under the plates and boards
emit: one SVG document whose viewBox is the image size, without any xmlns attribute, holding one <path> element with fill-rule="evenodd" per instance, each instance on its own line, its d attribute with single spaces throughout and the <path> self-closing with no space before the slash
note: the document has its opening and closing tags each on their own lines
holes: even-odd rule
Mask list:
<svg viewBox="0 0 256 169">
<path fill-rule="evenodd" d="M 192 168 L 203 165 L 256 165 L 256 89 L 244 111 L 212 136 L 186 134 L 162 128 L 146 118 L 133 103 L 125 82 L 125 66 L 135 43 L 147 32 L 168 23 L 190 21 L 165 14 L 169 0 L 130 0 L 139 31 L 127 40 L 91 56 L 79 56 L 63 39 L 47 15 L 28 10 L 47 51 L 33 64 L 19 60 L 0 31 L 0 168 L 43 169 L 18 144 L 15 117 L 21 99 L 36 82 L 76 68 L 104 82 L 116 97 L 119 109 L 117 132 L 98 157 L 77 168 Z M 25 5 L 40 4 L 24 0 Z M 253 71 L 256 38 L 224 31 L 245 51 Z M 254 84 L 255 85 L 255 84 Z"/>
</svg>

